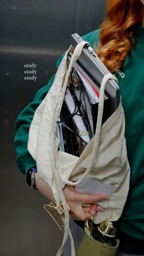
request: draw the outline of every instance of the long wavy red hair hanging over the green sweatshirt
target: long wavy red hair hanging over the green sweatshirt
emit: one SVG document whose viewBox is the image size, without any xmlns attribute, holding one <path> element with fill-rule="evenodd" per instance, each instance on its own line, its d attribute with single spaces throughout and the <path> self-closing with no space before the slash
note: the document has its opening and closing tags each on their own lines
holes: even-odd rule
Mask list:
<svg viewBox="0 0 144 256">
<path fill-rule="evenodd" d="M 134 45 L 134 31 L 143 21 L 140 0 L 108 0 L 106 20 L 101 25 L 96 52 L 110 72 L 123 64 Z"/>
</svg>

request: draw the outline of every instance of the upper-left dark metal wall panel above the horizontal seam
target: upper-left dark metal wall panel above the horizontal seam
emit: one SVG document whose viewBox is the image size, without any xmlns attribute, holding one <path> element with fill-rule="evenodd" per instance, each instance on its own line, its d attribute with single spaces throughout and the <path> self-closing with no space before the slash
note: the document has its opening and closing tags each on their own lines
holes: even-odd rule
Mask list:
<svg viewBox="0 0 144 256">
<path fill-rule="evenodd" d="M 75 31 L 76 0 L 1 1 L 1 45 L 67 47 Z"/>
</svg>

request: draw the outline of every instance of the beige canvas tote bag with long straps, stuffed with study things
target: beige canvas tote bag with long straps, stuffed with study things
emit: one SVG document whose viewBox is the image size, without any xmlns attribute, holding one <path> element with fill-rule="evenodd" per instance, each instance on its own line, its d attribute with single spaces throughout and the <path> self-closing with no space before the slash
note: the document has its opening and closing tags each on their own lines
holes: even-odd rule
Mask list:
<svg viewBox="0 0 144 256">
<path fill-rule="evenodd" d="M 28 150 L 37 162 L 38 175 L 48 183 L 57 205 L 62 202 L 65 211 L 63 243 L 57 256 L 62 254 L 68 233 L 71 236 L 68 207 L 62 191 L 65 184 L 75 186 L 88 176 L 117 187 L 117 191 L 109 200 L 99 203 L 105 208 L 105 211 L 93 216 L 96 224 L 106 219 L 117 221 L 120 218 L 129 189 L 130 169 L 124 138 L 124 112 L 121 102 L 117 110 L 101 126 L 104 87 L 109 79 L 116 79 L 112 74 L 108 73 L 104 76 L 101 83 L 95 136 L 85 147 L 81 156 L 78 158 L 60 152 L 58 149 L 57 121 L 60 116 L 65 90 L 68 86 L 73 65 L 86 43 L 85 41 L 79 43 L 73 53 L 71 47 L 68 49 L 57 70 L 51 89 L 35 111 L 29 130 Z M 68 53 L 71 53 L 72 57 L 67 68 Z M 71 248 L 71 255 L 75 255 L 72 238 Z"/>
</svg>

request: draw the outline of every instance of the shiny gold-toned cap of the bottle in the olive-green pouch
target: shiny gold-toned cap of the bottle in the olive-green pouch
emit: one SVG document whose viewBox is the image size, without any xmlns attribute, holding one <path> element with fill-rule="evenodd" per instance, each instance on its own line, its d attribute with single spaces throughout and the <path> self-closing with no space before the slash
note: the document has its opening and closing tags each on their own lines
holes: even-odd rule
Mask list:
<svg viewBox="0 0 144 256">
<path fill-rule="evenodd" d="M 117 228 L 113 227 L 111 221 L 103 221 L 101 224 L 98 225 L 99 232 L 103 233 L 107 236 L 115 236 Z"/>
</svg>

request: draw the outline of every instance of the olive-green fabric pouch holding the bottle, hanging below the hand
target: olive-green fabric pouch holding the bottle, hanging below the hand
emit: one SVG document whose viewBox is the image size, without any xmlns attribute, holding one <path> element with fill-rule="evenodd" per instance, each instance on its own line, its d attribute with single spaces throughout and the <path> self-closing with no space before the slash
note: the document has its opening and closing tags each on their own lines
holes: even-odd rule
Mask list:
<svg viewBox="0 0 144 256">
<path fill-rule="evenodd" d="M 102 244 L 90 237 L 90 232 L 86 228 L 84 238 L 82 238 L 76 256 L 115 256 L 120 240 L 116 240 L 116 243 L 116 246 Z"/>
</svg>

